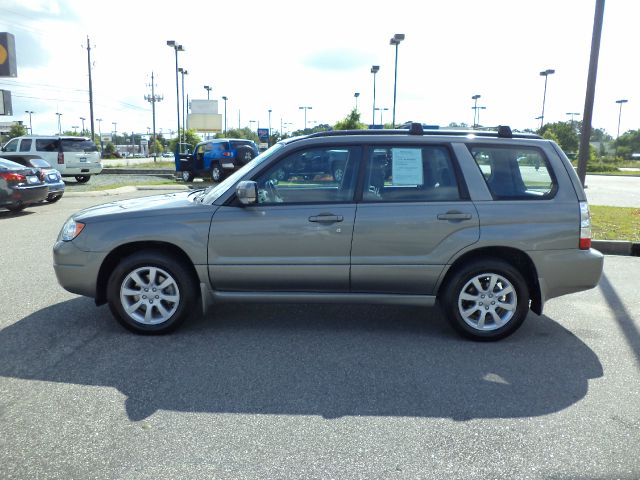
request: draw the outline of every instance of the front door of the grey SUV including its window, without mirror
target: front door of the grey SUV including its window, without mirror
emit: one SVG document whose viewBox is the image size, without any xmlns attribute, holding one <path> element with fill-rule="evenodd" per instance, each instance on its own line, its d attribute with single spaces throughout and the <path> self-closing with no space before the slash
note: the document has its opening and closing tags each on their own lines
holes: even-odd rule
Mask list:
<svg viewBox="0 0 640 480">
<path fill-rule="evenodd" d="M 335 150 L 335 148 L 333 149 Z M 347 164 L 336 180 L 330 150 L 306 149 L 318 167 L 282 179 L 290 156 L 252 180 L 258 204 L 216 211 L 209 239 L 209 275 L 219 291 L 348 292 L 360 149 L 344 147 Z"/>
</svg>

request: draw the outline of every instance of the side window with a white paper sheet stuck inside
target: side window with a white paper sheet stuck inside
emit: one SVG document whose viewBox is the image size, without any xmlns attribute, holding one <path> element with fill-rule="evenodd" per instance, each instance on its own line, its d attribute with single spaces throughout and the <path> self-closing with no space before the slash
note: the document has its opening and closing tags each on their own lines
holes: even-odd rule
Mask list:
<svg viewBox="0 0 640 480">
<path fill-rule="evenodd" d="M 364 202 L 460 199 L 449 150 L 443 146 L 376 146 L 369 151 Z"/>
</svg>

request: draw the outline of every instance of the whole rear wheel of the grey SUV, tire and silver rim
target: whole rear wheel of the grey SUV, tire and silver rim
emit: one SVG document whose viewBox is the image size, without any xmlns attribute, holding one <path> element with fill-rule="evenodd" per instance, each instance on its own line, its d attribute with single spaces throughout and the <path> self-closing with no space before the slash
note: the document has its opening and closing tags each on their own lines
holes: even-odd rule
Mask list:
<svg viewBox="0 0 640 480">
<path fill-rule="evenodd" d="M 529 313 L 529 288 L 511 264 L 476 260 L 453 272 L 443 286 L 451 326 L 472 340 L 493 341 L 515 332 Z"/>
</svg>

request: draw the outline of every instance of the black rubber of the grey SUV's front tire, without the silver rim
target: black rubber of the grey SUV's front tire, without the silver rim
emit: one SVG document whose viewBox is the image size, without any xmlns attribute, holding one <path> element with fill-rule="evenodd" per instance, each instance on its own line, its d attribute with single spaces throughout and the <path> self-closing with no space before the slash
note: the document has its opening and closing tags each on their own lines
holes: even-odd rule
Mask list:
<svg viewBox="0 0 640 480">
<path fill-rule="evenodd" d="M 180 303 L 169 320 L 157 325 L 144 325 L 133 320 L 120 302 L 120 288 L 124 278 L 140 267 L 158 267 L 168 272 L 178 285 Z M 189 271 L 174 258 L 161 252 L 138 252 L 126 257 L 113 270 L 107 284 L 109 308 L 125 328 L 141 334 L 163 334 L 175 330 L 195 310 L 197 284 Z"/>
</svg>

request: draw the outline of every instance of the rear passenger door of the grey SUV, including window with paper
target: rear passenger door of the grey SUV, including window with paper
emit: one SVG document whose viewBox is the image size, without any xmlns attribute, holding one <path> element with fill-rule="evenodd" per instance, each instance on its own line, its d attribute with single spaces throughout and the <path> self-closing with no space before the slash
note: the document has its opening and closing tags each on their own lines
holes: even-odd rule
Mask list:
<svg viewBox="0 0 640 480">
<path fill-rule="evenodd" d="M 369 149 L 354 225 L 351 291 L 430 295 L 479 236 L 478 214 L 446 145 Z"/>
</svg>

